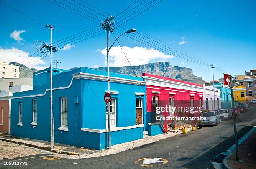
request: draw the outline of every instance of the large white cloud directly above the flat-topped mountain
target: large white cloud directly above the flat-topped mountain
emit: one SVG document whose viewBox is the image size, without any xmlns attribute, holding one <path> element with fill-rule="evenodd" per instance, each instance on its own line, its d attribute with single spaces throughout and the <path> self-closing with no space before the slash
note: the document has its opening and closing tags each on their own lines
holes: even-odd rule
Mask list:
<svg viewBox="0 0 256 169">
<path fill-rule="evenodd" d="M 122 47 L 125 55 L 128 57 L 128 60 L 130 61 L 131 65 L 141 65 L 141 64 L 147 64 L 153 59 L 160 59 L 160 60 L 166 60 L 171 59 L 174 56 L 173 55 L 165 55 L 162 52 L 159 52 L 158 50 L 146 48 L 146 47 Z M 101 54 L 105 57 L 105 65 L 107 65 L 107 50 L 102 49 Z M 129 63 L 125 58 L 125 55 L 123 54 L 123 51 L 121 48 L 118 47 L 112 47 L 110 52 L 110 66 L 128 66 Z"/>
</svg>

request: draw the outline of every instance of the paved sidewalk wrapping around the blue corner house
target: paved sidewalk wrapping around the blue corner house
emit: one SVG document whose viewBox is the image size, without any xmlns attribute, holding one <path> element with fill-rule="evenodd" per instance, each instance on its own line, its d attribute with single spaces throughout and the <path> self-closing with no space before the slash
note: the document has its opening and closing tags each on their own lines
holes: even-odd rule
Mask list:
<svg viewBox="0 0 256 169">
<path fill-rule="evenodd" d="M 188 132 L 191 131 L 191 128 L 187 128 L 187 131 Z M 54 154 L 54 156 L 61 157 L 61 158 L 69 158 L 69 159 L 100 157 L 100 156 L 105 156 L 109 154 L 116 154 L 128 149 L 133 149 L 135 147 L 140 147 L 146 144 L 157 142 L 159 140 L 173 137 L 178 134 L 182 134 L 182 131 L 179 130 L 179 132 L 177 133 L 168 132 L 167 134 L 159 134 L 156 136 L 144 136 L 143 139 L 138 139 L 131 142 L 125 142 L 122 144 L 113 145 L 111 149 L 102 149 L 102 150 L 88 149 L 84 147 L 73 147 L 65 144 L 56 143 L 54 152 L 59 154 Z M 50 142 L 47 142 L 47 141 L 13 137 L 11 135 L 0 135 L 0 140 L 6 141 L 6 142 L 13 142 L 13 143 L 17 143 L 17 144 L 21 144 L 29 147 L 35 147 L 38 149 L 44 149 L 48 151 L 50 150 Z"/>
</svg>

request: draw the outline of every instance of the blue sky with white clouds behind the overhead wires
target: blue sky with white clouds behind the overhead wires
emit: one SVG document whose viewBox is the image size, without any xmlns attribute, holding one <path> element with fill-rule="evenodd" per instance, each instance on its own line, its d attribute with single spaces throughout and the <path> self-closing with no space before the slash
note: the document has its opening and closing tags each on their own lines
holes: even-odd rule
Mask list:
<svg viewBox="0 0 256 169">
<path fill-rule="evenodd" d="M 86 28 L 97 25 L 95 22 L 69 12 L 47 0 L 2 1 L 40 22 L 42 25 L 50 24 L 56 26 L 53 31 L 53 42 L 89 29 L 64 29 L 60 27 Z M 51 1 L 56 2 L 54 0 Z M 68 5 L 63 0 L 58 1 Z M 76 4 L 72 0 L 67 1 Z M 75 1 L 82 3 L 80 0 Z M 146 5 L 151 1 L 148 0 L 143 4 Z M 133 0 L 112 0 L 111 3 L 103 0 L 86 0 L 86 2 L 115 16 L 115 14 L 128 6 Z M 138 4 L 141 2 L 143 0 L 140 0 Z M 70 4 L 69 6 L 72 7 Z M 86 6 L 90 7 L 88 5 Z M 141 5 L 141 7 L 143 6 Z M 140 9 L 141 7 L 136 9 Z M 82 8 L 87 10 L 84 7 Z M 218 67 L 221 67 L 232 75 L 241 75 L 256 65 L 255 8 L 256 2 L 253 0 L 248 0 L 246 3 L 242 0 L 164 0 L 146 12 L 129 20 L 127 23 L 135 27 L 138 32 L 146 32 L 179 50 L 200 58 L 199 60 L 203 59 L 209 61 L 209 63 L 216 63 Z M 36 52 L 33 40 L 41 40 L 49 43 L 50 32 L 44 29 L 33 40 L 24 45 L 20 50 L 17 50 L 22 44 L 26 43 L 31 37 L 42 30 L 43 27 L 1 2 L 0 9 L 0 15 L 4 16 L 1 17 L 2 26 L 0 27 L 0 61 L 22 62 L 28 59 L 29 55 Z M 80 11 L 84 12 L 83 10 Z M 105 13 L 99 10 L 97 12 L 105 15 Z M 130 12 L 125 16 L 132 13 Z M 94 14 L 102 17 L 100 14 Z M 122 18 L 125 18 L 125 16 Z M 92 20 L 101 21 L 98 17 L 94 17 Z M 116 23 L 118 23 L 118 17 L 116 17 Z M 100 24 L 100 21 L 96 22 Z M 10 35 L 14 30 L 24 30 L 25 32 L 20 34 L 19 32 L 14 32 Z M 115 31 L 115 35 L 119 35 L 118 32 L 120 30 Z M 110 44 L 114 40 L 115 37 L 113 34 L 110 34 Z M 206 81 L 212 80 L 212 70 L 209 67 L 182 60 L 175 55 L 172 57 L 168 53 L 152 50 L 151 47 L 125 36 L 120 37 L 119 42 L 121 46 L 125 46 L 124 50 L 133 65 L 165 60 L 170 61 L 173 66 L 190 67 L 194 75 L 200 76 Z M 118 46 L 118 43 L 115 46 Z M 61 60 L 62 63 L 58 67 L 63 69 L 77 66 L 105 67 L 105 47 L 106 34 L 101 34 L 76 43 L 70 49 L 56 52 L 54 54 L 54 60 Z M 173 47 L 171 48 L 176 50 Z M 113 66 L 128 65 L 120 48 L 113 47 L 112 50 L 110 54 L 112 55 L 111 63 Z M 30 67 L 48 67 L 49 59 L 49 57 L 45 57 L 43 60 L 39 60 L 33 64 L 32 58 L 31 62 L 27 62 L 27 65 L 31 63 L 32 65 Z M 215 79 L 223 77 L 224 72 L 218 71 L 215 73 Z"/>
</svg>

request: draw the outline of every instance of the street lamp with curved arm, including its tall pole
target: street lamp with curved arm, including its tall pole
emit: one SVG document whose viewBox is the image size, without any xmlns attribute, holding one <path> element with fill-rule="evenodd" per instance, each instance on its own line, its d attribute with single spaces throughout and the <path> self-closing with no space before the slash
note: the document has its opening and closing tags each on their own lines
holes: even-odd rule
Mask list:
<svg viewBox="0 0 256 169">
<path fill-rule="evenodd" d="M 114 21 L 113 21 L 114 22 Z M 105 24 L 105 25 L 104 25 Z M 113 24 L 113 23 L 112 23 Z M 115 44 L 115 42 L 118 40 L 118 38 L 125 33 L 133 33 L 136 31 L 135 28 L 132 28 L 130 30 L 127 30 L 123 34 L 121 34 L 116 40 L 113 42 L 113 44 L 108 47 L 109 44 L 109 31 L 113 32 L 113 27 L 110 22 L 110 19 L 107 19 L 105 22 L 102 22 L 103 29 L 107 30 L 107 65 L 108 65 L 108 93 L 110 93 L 110 75 L 109 75 L 109 50 L 111 47 Z M 110 127 L 110 102 L 108 102 L 108 148 L 111 149 L 111 127 Z"/>
</svg>

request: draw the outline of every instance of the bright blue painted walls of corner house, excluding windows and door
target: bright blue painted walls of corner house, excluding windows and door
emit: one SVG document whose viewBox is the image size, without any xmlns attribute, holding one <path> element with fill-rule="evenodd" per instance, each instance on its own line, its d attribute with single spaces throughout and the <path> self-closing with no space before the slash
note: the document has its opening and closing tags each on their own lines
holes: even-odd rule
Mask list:
<svg viewBox="0 0 256 169">
<path fill-rule="evenodd" d="M 41 74 L 34 76 L 33 90 L 13 93 L 11 100 L 11 134 L 18 137 L 40 139 L 50 141 L 50 91 L 49 69 L 40 71 Z M 105 129 L 106 115 L 103 96 L 107 90 L 107 82 L 89 79 L 73 79 L 72 75 L 82 72 L 95 75 L 107 75 L 107 72 L 89 68 L 79 68 L 72 71 L 56 71 L 53 76 L 53 88 L 65 87 L 65 89 L 53 90 L 53 113 L 54 113 L 54 134 L 55 142 L 93 149 L 104 149 L 108 146 L 108 134 L 81 131 L 81 127 L 90 129 Z M 37 73 L 35 73 L 37 74 Z M 110 73 L 111 77 L 120 77 L 130 80 L 137 80 L 136 77 Z M 142 78 L 139 80 L 143 81 Z M 72 83 L 71 83 L 72 82 Z M 70 86 L 69 86 L 70 85 Z M 126 127 L 135 125 L 135 99 L 139 96 L 135 92 L 145 93 L 146 86 L 127 83 L 110 82 L 110 90 L 118 91 L 118 94 L 111 94 L 117 99 L 116 126 Z M 33 96 L 26 97 L 31 95 Z M 25 98 L 15 98 L 24 97 Z M 59 130 L 61 127 L 60 97 L 68 97 L 68 132 Z M 79 102 L 75 103 L 78 97 Z M 32 122 L 32 99 L 37 99 L 37 126 Z M 143 99 L 143 124 L 146 123 L 146 95 Z M 18 126 L 19 114 L 18 103 L 23 102 L 23 122 Z M 144 128 L 146 125 L 144 125 Z M 113 134 L 112 134 L 113 133 Z M 143 127 L 125 129 L 111 132 L 112 144 L 132 141 L 143 138 Z"/>
</svg>

